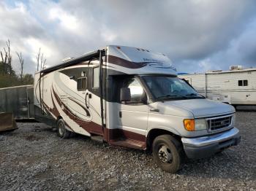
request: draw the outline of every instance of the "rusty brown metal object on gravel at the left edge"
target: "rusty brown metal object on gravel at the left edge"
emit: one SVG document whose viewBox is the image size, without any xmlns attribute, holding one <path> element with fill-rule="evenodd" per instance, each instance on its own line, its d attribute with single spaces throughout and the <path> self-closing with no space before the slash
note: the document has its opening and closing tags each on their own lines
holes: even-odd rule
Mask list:
<svg viewBox="0 0 256 191">
<path fill-rule="evenodd" d="M 0 132 L 18 129 L 12 113 L 0 113 Z"/>
</svg>

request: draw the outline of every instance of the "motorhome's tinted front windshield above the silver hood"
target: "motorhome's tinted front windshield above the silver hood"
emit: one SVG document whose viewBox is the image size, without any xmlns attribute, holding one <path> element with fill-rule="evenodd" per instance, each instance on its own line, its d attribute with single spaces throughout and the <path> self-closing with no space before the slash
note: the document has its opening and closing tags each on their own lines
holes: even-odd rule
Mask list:
<svg viewBox="0 0 256 191">
<path fill-rule="evenodd" d="M 178 77 L 143 76 L 142 78 L 157 100 L 204 98 Z"/>
</svg>

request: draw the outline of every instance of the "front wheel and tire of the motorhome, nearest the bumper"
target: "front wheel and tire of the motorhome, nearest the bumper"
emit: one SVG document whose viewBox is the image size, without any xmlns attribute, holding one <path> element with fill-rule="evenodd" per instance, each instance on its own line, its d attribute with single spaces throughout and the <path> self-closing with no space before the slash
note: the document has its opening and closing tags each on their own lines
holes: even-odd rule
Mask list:
<svg viewBox="0 0 256 191">
<path fill-rule="evenodd" d="M 184 163 L 181 142 L 170 135 L 157 136 L 152 146 L 154 161 L 168 173 L 176 173 Z"/>
</svg>

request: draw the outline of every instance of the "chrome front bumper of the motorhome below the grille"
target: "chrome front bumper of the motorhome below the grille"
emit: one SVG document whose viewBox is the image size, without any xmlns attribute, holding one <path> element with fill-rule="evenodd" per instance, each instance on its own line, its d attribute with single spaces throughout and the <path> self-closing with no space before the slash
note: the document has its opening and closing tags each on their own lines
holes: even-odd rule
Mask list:
<svg viewBox="0 0 256 191">
<path fill-rule="evenodd" d="M 222 133 L 197 138 L 181 138 L 184 151 L 189 158 L 202 158 L 213 155 L 241 140 L 239 130 L 232 128 Z"/>
</svg>

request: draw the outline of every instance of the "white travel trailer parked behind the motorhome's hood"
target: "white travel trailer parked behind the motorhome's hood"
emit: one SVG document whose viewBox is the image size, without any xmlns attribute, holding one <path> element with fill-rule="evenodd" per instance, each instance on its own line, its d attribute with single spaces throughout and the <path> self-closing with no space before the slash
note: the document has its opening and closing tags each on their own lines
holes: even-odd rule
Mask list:
<svg viewBox="0 0 256 191">
<path fill-rule="evenodd" d="M 256 69 L 182 74 L 198 93 L 214 101 L 232 105 L 256 105 Z"/>
</svg>

